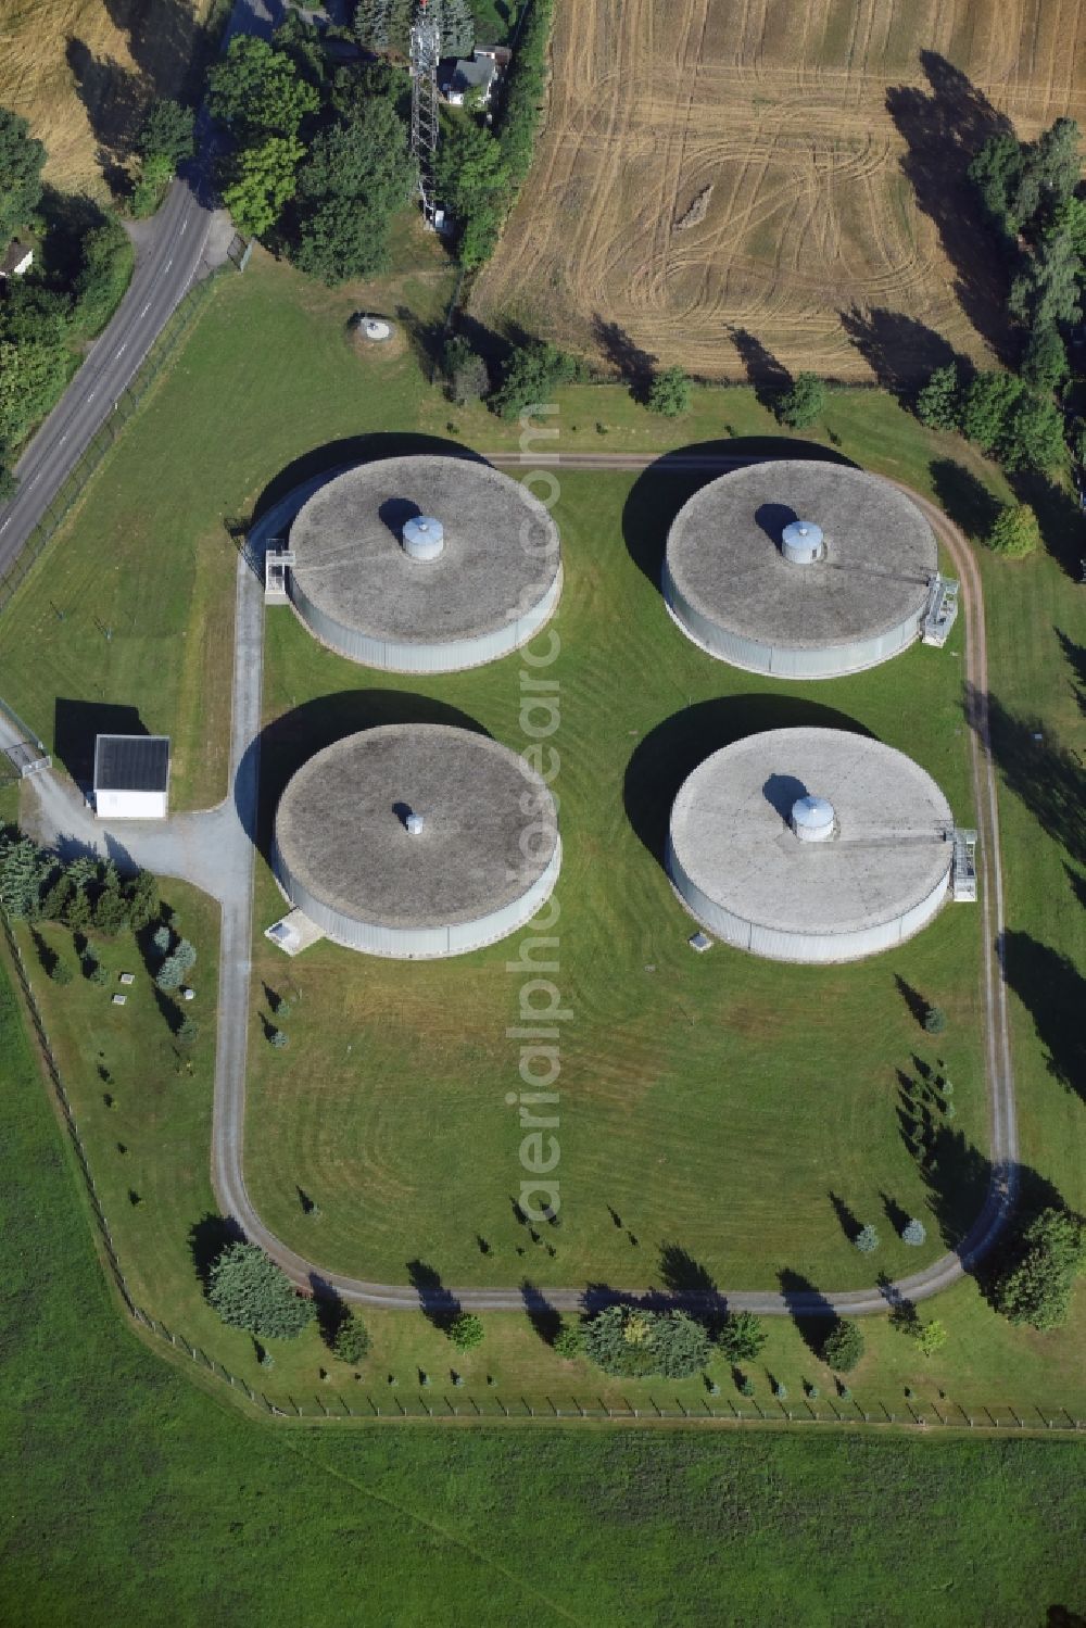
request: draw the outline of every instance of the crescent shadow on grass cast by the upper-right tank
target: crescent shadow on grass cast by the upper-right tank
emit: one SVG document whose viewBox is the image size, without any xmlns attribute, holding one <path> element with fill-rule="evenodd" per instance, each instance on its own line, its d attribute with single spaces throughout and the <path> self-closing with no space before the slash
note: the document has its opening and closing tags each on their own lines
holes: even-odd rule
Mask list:
<svg viewBox="0 0 1086 1628">
<path fill-rule="evenodd" d="M 622 536 L 633 563 L 659 584 L 668 531 L 684 503 L 721 475 L 744 464 L 770 459 L 817 459 L 827 464 L 856 466 L 819 441 L 783 435 L 744 435 L 726 441 L 695 441 L 664 453 L 635 480 L 622 511 Z M 694 461 L 694 462 L 692 462 Z"/>
</svg>

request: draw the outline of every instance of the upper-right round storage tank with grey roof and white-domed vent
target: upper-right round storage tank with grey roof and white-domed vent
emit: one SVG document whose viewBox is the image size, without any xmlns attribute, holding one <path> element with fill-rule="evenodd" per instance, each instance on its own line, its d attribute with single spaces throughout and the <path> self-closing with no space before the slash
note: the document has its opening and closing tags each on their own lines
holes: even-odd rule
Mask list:
<svg viewBox="0 0 1086 1628">
<path fill-rule="evenodd" d="M 860 672 L 920 635 L 938 568 L 917 505 L 845 464 L 751 464 L 676 516 L 664 602 L 712 656 L 782 679 Z"/>
</svg>

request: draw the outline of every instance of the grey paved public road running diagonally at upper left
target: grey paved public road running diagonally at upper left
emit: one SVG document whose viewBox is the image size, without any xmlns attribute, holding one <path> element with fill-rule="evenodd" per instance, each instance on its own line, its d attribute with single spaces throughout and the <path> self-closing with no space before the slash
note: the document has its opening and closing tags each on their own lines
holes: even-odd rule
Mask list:
<svg viewBox="0 0 1086 1628">
<path fill-rule="evenodd" d="M 282 20 L 283 0 L 236 0 L 225 39 L 267 33 Z M 49 418 L 16 464 L 20 490 L 0 506 L 0 576 L 11 567 L 59 488 L 130 384 L 186 290 L 210 270 L 215 221 L 210 184 L 213 142 L 200 120 L 200 158 L 174 181 L 142 233 L 135 274 L 106 330 Z"/>
</svg>

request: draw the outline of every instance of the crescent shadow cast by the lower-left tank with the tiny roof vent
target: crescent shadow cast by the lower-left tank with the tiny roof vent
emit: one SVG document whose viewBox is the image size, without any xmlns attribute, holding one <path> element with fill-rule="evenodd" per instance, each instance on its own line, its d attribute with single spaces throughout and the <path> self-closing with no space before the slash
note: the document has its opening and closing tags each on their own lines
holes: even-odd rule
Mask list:
<svg viewBox="0 0 1086 1628">
<path fill-rule="evenodd" d="M 391 723 L 441 723 L 487 734 L 459 708 L 409 690 L 337 690 L 293 707 L 265 724 L 246 751 L 246 759 L 256 760 L 259 770 L 256 832 L 243 803 L 238 803 L 238 812 L 265 860 L 270 858 L 275 809 L 291 775 L 334 741 Z M 238 786 L 246 785 L 247 764 L 243 762 Z"/>
</svg>

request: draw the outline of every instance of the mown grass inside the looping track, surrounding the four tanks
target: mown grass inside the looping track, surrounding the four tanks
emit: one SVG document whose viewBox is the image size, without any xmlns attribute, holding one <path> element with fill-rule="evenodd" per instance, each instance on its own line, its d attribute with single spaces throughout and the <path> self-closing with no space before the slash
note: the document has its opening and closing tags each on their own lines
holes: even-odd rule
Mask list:
<svg viewBox="0 0 1086 1628">
<path fill-rule="evenodd" d="M 558 944 L 544 959 L 558 961 L 571 1014 L 557 1110 L 562 1228 L 532 1244 L 511 1210 L 521 1131 L 506 1092 L 518 1089 L 519 1050 L 506 1031 L 529 977 L 508 970 L 516 936 L 412 965 L 327 944 L 285 964 L 257 939 L 257 980 L 296 993 L 288 1052 L 252 1024 L 249 1190 L 280 1237 L 317 1249 L 329 1268 L 405 1281 L 407 1263 L 423 1260 L 446 1283 L 637 1286 L 661 1281 L 661 1249 L 677 1244 L 729 1288 L 775 1286 L 782 1273 L 853 1288 L 871 1280 L 871 1262 L 845 1236 L 842 1206 L 878 1221 L 878 1265 L 891 1275 L 935 1258 L 979 1208 L 977 912 L 948 910 L 860 967 L 780 967 L 725 946 L 695 957 L 694 923 L 661 868 L 689 770 L 729 739 L 782 724 L 868 729 L 912 752 L 957 817 L 972 819 L 961 632 L 941 658 L 917 646 L 817 690 L 712 661 L 676 632 L 656 586 L 669 516 L 690 487 L 690 477 L 563 474 L 555 508 L 567 586 L 562 654 L 547 669 L 560 697 L 549 744 L 560 755 L 565 861 Z M 339 661 L 290 612 L 269 617 L 269 801 L 324 741 L 383 718 L 464 718 L 526 747 L 521 667 L 511 656 L 405 685 Z M 257 930 L 280 910 L 269 887 L 261 904 Z M 946 1004 L 944 1044 L 923 1044 L 897 978 Z M 943 1057 L 956 1084 L 935 1192 L 899 1125 L 899 1071 L 915 1074 L 913 1053 L 931 1066 Z M 319 1226 L 298 1188 L 319 1205 Z M 900 1211 L 925 1218 L 925 1250 L 894 1237 Z"/>
</svg>

